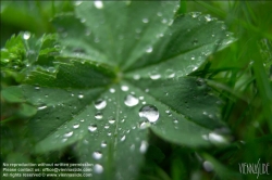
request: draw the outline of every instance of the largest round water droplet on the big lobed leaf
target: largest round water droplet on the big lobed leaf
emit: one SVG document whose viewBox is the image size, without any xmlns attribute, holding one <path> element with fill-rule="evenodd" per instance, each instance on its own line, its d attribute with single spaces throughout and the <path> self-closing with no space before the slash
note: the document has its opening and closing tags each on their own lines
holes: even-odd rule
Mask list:
<svg viewBox="0 0 272 180">
<path fill-rule="evenodd" d="M 139 117 L 145 117 L 150 123 L 154 123 L 159 119 L 159 111 L 154 105 L 144 105 L 139 110 Z"/>
</svg>

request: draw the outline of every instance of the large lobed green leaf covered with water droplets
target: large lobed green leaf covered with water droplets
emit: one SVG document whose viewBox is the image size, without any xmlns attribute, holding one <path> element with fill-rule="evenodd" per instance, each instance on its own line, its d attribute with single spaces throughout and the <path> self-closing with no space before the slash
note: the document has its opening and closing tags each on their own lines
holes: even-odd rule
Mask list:
<svg viewBox="0 0 272 180">
<path fill-rule="evenodd" d="M 233 38 L 222 22 L 176 16 L 175 9 L 177 2 L 76 2 L 74 14 L 53 20 L 63 47 L 57 70 L 35 68 L 26 85 L 3 93 L 37 106 L 29 120 L 36 153 L 73 144 L 79 162 L 94 164 L 94 179 L 133 179 L 149 129 L 194 147 L 226 142 L 219 99 L 187 75 Z"/>
</svg>

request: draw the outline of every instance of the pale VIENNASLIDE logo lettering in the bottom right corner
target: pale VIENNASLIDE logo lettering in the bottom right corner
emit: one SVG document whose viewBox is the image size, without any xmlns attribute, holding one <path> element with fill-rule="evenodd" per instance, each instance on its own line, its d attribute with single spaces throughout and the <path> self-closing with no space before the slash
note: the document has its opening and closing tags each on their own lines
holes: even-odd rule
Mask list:
<svg viewBox="0 0 272 180">
<path fill-rule="evenodd" d="M 269 173 L 269 163 L 239 163 L 239 172 L 243 175 L 257 175 L 257 179 L 260 175 L 270 175 Z"/>
</svg>

